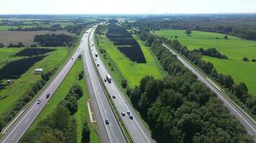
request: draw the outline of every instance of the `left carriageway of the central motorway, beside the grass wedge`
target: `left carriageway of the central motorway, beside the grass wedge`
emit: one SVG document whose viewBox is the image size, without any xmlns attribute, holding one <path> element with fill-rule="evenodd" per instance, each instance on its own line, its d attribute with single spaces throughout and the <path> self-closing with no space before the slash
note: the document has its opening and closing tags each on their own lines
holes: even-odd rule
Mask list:
<svg viewBox="0 0 256 143">
<path fill-rule="evenodd" d="M 92 30 L 92 29 L 89 29 Z M 109 119 L 109 124 L 104 123 L 104 127 L 106 128 L 106 133 L 109 136 L 110 142 L 127 142 L 124 138 L 121 128 L 116 120 L 114 112 L 112 111 L 109 101 L 106 98 L 106 94 L 104 92 L 103 87 L 101 87 L 101 83 L 96 74 L 96 69 L 93 66 L 93 61 L 91 59 L 89 46 L 88 46 L 88 38 L 86 42 L 83 43 L 83 57 L 84 57 L 84 66 L 88 71 L 88 76 L 90 77 L 91 87 L 93 88 L 93 94 L 96 99 L 96 104 L 98 104 L 99 112 L 101 114 L 101 119 L 98 122 L 105 122 L 105 119 Z M 95 103 L 94 103 L 95 104 Z"/>
</svg>

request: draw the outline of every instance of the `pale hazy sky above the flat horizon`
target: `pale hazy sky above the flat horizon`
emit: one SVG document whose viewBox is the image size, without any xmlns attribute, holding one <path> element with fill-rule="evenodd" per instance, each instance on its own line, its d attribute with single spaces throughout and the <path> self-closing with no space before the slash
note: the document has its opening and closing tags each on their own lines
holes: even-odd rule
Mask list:
<svg viewBox="0 0 256 143">
<path fill-rule="evenodd" d="M 256 0 L 0 0 L 0 14 L 256 13 Z"/>
</svg>

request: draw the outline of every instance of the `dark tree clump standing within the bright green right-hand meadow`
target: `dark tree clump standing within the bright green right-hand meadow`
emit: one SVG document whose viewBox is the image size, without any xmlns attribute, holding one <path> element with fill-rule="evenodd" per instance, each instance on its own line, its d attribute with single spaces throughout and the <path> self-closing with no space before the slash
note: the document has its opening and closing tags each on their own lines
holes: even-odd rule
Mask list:
<svg viewBox="0 0 256 143">
<path fill-rule="evenodd" d="M 228 59 L 226 55 L 221 54 L 215 48 L 210 48 L 210 49 L 199 48 L 199 49 L 194 49 L 193 51 L 196 51 L 196 52 L 198 52 L 198 53 L 200 53 L 201 55 L 204 55 L 204 56 L 211 56 L 211 57 L 216 57 L 216 58 L 219 58 L 219 59 Z"/>
</svg>

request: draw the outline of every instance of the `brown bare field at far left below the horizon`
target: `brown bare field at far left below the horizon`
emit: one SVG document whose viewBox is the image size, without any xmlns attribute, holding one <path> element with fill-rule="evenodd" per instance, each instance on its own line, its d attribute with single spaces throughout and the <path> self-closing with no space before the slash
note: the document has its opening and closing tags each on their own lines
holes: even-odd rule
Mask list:
<svg viewBox="0 0 256 143">
<path fill-rule="evenodd" d="M 0 31 L 0 42 L 4 46 L 8 46 L 10 43 L 17 44 L 22 41 L 25 46 L 30 46 L 35 44 L 34 37 L 38 34 L 67 34 L 74 36 L 68 31 Z"/>
</svg>

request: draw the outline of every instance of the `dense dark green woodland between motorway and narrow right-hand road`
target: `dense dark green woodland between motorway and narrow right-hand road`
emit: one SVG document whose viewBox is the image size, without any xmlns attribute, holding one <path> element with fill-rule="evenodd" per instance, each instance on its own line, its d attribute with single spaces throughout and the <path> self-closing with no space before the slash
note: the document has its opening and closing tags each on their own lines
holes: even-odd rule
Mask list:
<svg viewBox="0 0 256 143">
<path fill-rule="evenodd" d="M 150 41 L 150 33 L 144 37 Z M 157 142 L 253 142 L 252 137 L 196 75 L 153 37 L 153 53 L 168 71 L 164 79 L 145 77 L 127 89 L 132 104 Z"/>
</svg>

